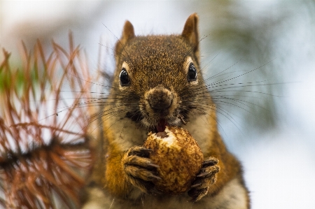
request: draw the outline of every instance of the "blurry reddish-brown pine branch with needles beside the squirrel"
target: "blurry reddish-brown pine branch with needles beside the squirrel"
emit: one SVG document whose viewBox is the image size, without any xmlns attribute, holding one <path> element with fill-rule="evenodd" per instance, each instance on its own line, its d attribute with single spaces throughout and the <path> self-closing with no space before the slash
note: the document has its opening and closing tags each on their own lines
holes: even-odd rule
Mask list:
<svg viewBox="0 0 315 209">
<path fill-rule="evenodd" d="M 90 75 L 69 34 L 69 51 L 52 43 L 24 44 L 23 63 L 0 64 L 0 205 L 3 208 L 76 208 L 92 166 L 87 119 Z M 84 79 L 83 79 L 84 78 Z M 64 87 L 69 87 L 65 95 Z M 71 94 L 71 95 L 69 95 Z M 1 195 L 2 191 L 2 195 Z"/>
</svg>

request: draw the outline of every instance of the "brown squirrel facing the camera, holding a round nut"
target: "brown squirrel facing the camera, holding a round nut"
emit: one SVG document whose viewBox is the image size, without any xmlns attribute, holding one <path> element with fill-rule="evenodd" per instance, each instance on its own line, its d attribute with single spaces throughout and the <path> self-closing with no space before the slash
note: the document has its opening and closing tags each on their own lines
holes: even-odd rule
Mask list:
<svg viewBox="0 0 315 209">
<path fill-rule="evenodd" d="M 239 161 L 218 133 L 216 106 L 200 71 L 197 26 L 194 13 L 181 35 L 135 36 L 125 22 L 111 92 L 101 101 L 104 142 L 97 145 L 83 208 L 250 208 Z M 157 166 L 142 145 L 149 131 L 165 126 L 188 129 L 204 154 L 185 194 L 154 187 Z"/>
</svg>

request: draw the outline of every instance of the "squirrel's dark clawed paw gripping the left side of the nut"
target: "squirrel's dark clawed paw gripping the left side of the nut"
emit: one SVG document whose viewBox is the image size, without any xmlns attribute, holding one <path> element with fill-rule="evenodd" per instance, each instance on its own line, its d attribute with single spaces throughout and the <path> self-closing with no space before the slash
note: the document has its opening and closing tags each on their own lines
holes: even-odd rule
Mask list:
<svg viewBox="0 0 315 209">
<path fill-rule="evenodd" d="M 125 153 L 122 159 L 127 181 L 148 194 L 155 191 L 153 180 L 160 180 L 156 174 L 158 166 L 148 158 L 151 152 L 152 150 L 146 147 L 134 146 Z"/>
</svg>

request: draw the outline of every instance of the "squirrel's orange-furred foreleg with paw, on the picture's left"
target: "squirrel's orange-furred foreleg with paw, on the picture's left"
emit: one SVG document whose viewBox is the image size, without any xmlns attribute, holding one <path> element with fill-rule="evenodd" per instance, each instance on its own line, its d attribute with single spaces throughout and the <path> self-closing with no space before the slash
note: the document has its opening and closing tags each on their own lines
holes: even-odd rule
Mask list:
<svg viewBox="0 0 315 209">
<path fill-rule="evenodd" d="M 141 192 L 153 194 L 153 180 L 160 180 L 156 174 L 157 165 L 149 159 L 151 150 L 143 146 L 130 147 L 127 152 L 111 152 L 106 163 L 105 185 L 111 193 L 126 196 L 137 187 Z"/>
</svg>

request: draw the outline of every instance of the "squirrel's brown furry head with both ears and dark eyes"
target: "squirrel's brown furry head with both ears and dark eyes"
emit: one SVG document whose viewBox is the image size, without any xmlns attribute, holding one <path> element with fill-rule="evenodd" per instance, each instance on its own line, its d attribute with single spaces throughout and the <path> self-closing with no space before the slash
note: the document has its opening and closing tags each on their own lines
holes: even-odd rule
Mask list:
<svg viewBox="0 0 315 209">
<path fill-rule="evenodd" d="M 113 85 L 127 117 L 158 131 L 189 120 L 202 88 L 197 23 L 194 13 L 181 35 L 135 36 L 125 22 L 115 48 Z"/>
</svg>

